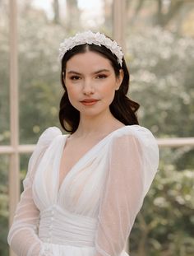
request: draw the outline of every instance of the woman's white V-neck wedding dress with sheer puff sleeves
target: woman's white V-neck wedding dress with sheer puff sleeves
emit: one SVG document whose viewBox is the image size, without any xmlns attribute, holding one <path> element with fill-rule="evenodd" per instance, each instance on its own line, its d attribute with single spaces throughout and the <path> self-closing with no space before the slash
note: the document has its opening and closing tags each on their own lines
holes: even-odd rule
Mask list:
<svg viewBox="0 0 194 256">
<path fill-rule="evenodd" d="M 127 256 L 159 151 L 146 128 L 119 128 L 87 151 L 59 188 L 68 135 L 48 128 L 30 157 L 8 243 L 20 256 Z"/>
</svg>

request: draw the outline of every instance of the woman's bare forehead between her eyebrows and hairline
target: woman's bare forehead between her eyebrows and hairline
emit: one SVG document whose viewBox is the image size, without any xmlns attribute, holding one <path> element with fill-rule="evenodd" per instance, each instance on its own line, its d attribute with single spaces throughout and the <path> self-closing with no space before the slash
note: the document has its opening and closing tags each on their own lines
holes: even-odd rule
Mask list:
<svg viewBox="0 0 194 256">
<path fill-rule="evenodd" d="M 108 58 L 95 52 L 76 54 L 67 61 L 66 69 L 94 71 L 95 69 L 109 68 L 113 70 Z"/>
</svg>

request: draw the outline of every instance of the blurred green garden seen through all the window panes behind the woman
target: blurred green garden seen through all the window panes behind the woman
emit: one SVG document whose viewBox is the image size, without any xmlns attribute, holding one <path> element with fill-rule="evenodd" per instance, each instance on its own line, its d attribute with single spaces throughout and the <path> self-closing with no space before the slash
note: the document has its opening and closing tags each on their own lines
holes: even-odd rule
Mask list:
<svg viewBox="0 0 194 256">
<path fill-rule="evenodd" d="M 125 2 L 129 95 L 157 138 L 194 137 L 194 1 Z M 10 1 L 12 2 L 12 0 Z M 11 143 L 10 2 L 0 1 L 0 147 Z M 113 37 L 113 0 L 17 1 L 19 144 L 58 126 L 58 45 L 82 30 Z M 160 147 L 159 172 L 130 236 L 132 256 L 194 255 L 194 144 Z M 20 182 L 29 153 L 20 154 Z M 10 155 L 0 154 L 0 255 L 8 256 Z M 14 172 L 14 169 L 12 170 Z"/>
</svg>

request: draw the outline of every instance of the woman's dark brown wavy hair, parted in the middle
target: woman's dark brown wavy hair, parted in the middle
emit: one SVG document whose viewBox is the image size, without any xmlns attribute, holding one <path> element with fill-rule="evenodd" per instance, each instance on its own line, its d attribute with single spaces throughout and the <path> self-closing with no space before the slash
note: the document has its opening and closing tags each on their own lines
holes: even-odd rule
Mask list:
<svg viewBox="0 0 194 256">
<path fill-rule="evenodd" d="M 63 80 L 63 77 L 66 73 L 66 64 L 67 61 L 72 58 L 72 56 L 85 53 L 87 51 L 95 52 L 105 58 L 108 58 L 111 65 L 113 66 L 116 77 L 119 76 L 119 70 L 122 68 L 124 73 L 122 84 L 119 87 L 119 90 L 115 91 L 113 102 L 111 103 L 109 108 L 113 116 L 125 125 L 138 124 L 136 110 L 139 109 L 140 105 L 127 97 L 127 91 L 129 89 L 129 72 L 125 59 L 122 58 L 121 67 L 118 63 L 118 58 L 114 54 L 112 54 L 112 52 L 104 45 L 99 46 L 95 44 L 81 44 L 76 45 L 71 50 L 68 50 L 62 58 L 61 82 L 62 87 L 64 88 L 64 94 L 62 95 L 62 99 L 60 101 L 59 110 L 59 120 L 62 128 L 64 128 L 69 133 L 74 133 L 78 128 L 80 122 L 80 112 L 75 109 L 70 103 L 67 89 Z"/>
</svg>

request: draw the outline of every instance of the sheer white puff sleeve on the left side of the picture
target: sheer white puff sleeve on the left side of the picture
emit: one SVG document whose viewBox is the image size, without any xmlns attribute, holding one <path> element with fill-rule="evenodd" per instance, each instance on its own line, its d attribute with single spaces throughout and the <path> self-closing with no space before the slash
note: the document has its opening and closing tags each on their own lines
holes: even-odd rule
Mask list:
<svg viewBox="0 0 194 256">
<path fill-rule="evenodd" d="M 37 235 L 39 226 L 39 209 L 35 206 L 32 196 L 32 183 L 35 170 L 41 157 L 53 138 L 61 131 L 58 128 L 48 128 L 39 137 L 35 151 L 30 156 L 27 175 L 23 181 L 24 191 L 16 207 L 15 216 L 8 234 L 8 244 L 18 256 L 42 256 L 41 241 Z"/>
</svg>

